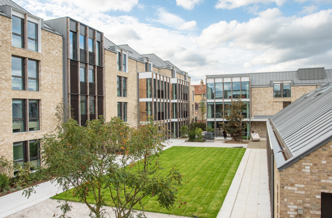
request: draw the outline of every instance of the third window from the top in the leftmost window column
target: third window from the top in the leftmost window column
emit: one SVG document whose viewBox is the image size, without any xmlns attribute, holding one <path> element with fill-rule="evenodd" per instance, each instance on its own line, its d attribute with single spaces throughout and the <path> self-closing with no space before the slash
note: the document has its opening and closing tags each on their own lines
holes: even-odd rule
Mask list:
<svg viewBox="0 0 332 218">
<path fill-rule="evenodd" d="M 27 105 L 27 108 L 26 108 Z M 13 132 L 38 131 L 39 128 L 39 100 L 13 99 Z M 28 111 L 28 122 L 25 112 Z"/>
</svg>

